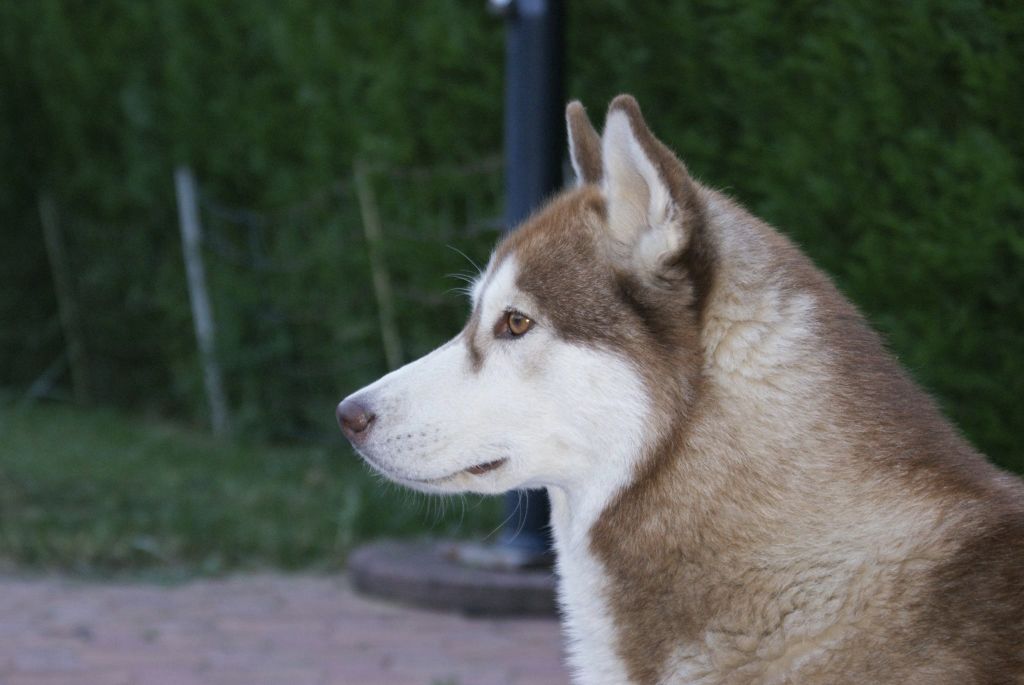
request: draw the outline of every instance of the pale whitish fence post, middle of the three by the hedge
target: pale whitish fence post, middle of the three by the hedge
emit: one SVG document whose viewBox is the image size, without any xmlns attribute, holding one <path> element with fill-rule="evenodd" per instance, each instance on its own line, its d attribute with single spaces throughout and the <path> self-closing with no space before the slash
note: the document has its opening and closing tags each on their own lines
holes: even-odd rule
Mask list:
<svg viewBox="0 0 1024 685">
<path fill-rule="evenodd" d="M 199 202 L 196 197 L 196 179 L 191 169 L 174 170 L 174 189 L 178 201 L 178 225 L 181 228 L 181 251 L 185 260 L 188 280 L 188 297 L 191 302 L 196 342 L 203 365 L 203 383 L 210 404 L 210 423 L 215 435 L 226 435 L 230 430 L 227 401 L 217 362 L 213 309 L 206 288 L 206 269 L 203 266 L 203 228 L 199 219 Z"/>
</svg>

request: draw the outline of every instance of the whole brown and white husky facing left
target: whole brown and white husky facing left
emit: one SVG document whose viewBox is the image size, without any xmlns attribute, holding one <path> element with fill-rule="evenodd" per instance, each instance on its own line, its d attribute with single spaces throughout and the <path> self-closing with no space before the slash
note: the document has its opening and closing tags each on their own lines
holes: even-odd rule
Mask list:
<svg viewBox="0 0 1024 685">
<path fill-rule="evenodd" d="M 1024 683 L 1024 484 L 616 97 L 466 328 L 338 405 L 388 478 L 551 497 L 573 678 Z"/>
</svg>

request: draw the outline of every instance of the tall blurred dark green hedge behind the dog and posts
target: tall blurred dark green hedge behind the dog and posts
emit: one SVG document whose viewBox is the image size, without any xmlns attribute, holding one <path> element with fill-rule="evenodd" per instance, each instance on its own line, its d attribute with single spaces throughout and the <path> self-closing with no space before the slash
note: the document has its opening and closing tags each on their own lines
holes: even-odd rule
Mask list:
<svg viewBox="0 0 1024 685">
<path fill-rule="evenodd" d="M 567 6 L 567 97 L 600 122 L 634 93 L 697 177 L 796 239 L 969 437 L 1024 470 L 1024 4 Z M 187 164 L 238 430 L 336 438 L 335 401 L 385 370 L 353 161 L 375 170 L 409 358 L 464 314 L 444 275 L 468 261 L 446 246 L 481 261 L 496 233 L 503 46 L 482 0 L 0 5 L 0 387 L 16 396 L 65 347 L 47 190 L 93 401 L 205 421 L 172 180 Z"/>
</svg>

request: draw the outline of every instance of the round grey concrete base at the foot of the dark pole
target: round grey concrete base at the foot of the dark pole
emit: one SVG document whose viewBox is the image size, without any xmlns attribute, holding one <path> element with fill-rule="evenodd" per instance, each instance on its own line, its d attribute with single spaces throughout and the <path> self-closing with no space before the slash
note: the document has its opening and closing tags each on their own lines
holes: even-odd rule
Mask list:
<svg viewBox="0 0 1024 685">
<path fill-rule="evenodd" d="M 372 543 L 348 559 L 353 587 L 368 595 L 473 615 L 555 615 L 550 568 L 494 570 L 459 561 L 457 543 Z"/>
</svg>

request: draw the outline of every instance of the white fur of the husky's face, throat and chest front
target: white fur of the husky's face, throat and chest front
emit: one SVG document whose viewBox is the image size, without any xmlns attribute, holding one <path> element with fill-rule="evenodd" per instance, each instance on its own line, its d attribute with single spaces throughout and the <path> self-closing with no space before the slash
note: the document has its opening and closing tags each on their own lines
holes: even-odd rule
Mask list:
<svg viewBox="0 0 1024 685">
<path fill-rule="evenodd" d="M 478 371 L 461 335 L 357 393 L 377 415 L 359 452 L 426 491 L 548 487 L 569 662 L 577 682 L 617 685 L 627 677 L 589 531 L 650 439 L 649 399 L 630 361 L 554 336 L 515 275 L 509 258 L 474 289 Z M 520 339 L 495 339 L 493 324 L 510 307 L 535 326 Z M 495 471 L 465 471 L 502 458 Z"/>
</svg>

